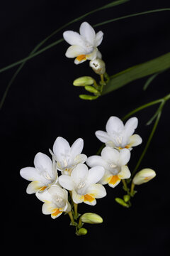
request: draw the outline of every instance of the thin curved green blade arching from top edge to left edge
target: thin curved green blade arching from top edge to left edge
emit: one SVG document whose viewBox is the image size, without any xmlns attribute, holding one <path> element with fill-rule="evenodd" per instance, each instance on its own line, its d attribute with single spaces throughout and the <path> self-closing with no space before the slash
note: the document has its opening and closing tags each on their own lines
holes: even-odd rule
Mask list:
<svg viewBox="0 0 170 256">
<path fill-rule="evenodd" d="M 108 9 L 111 8 L 113 6 L 119 5 L 119 4 L 124 4 L 125 2 L 130 1 L 130 0 L 118 0 L 118 1 L 113 1 L 110 4 L 106 4 L 105 6 L 101 6 L 98 9 L 95 9 L 93 11 L 89 11 L 88 13 L 80 16 L 79 18 L 75 18 L 72 21 L 69 21 L 68 23 L 64 24 L 63 26 L 61 26 L 60 28 L 58 28 L 56 31 L 54 31 L 53 33 L 50 34 L 50 36 L 47 36 L 47 38 L 45 38 L 43 41 L 41 41 L 37 46 L 35 46 L 35 48 L 31 51 L 30 55 L 33 55 L 33 53 L 35 53 L 38 48 L 40 48 L 40 46 L 42 46 L 44 43 L 46 43 L 50 38 L 52 38 L 52 36 L 55 36 L 55 34 L 57 34 L 58 32 L 60 32 L 63 28 L 66 28 L 67 26 L 71 25 L 74 22 L 80 21 L 82 18 L 85 18 L 86 16 L 89 16 L 90 14 L 94 14 L 97 11 L 101 11 L 103 9 Z M 61 43 L 61 41 L 57 41 L 58 43 Z M 16 72 L 14 73 L 13 77 L 11 78 L 11 80 L 8 82 L 8 85 L 6 87 L 6 90 L 4 92 L 4 95 L 1 99 L 0 102 L 0 110 L 1 107 L 4 104 L 4 100 L 6 99 L 6 95 L 8 94 L 8 90 L 11 87 L 13 81 L 16 79 L 16 76 L 18 75 L 18 73 L 21 71 L 21 69 L 23 68 L 23 66 L 26 64 L 27 60 L 23 61 L 23 63 L 20 65 L 20 67 L 16 70 Z"/>
</svg>

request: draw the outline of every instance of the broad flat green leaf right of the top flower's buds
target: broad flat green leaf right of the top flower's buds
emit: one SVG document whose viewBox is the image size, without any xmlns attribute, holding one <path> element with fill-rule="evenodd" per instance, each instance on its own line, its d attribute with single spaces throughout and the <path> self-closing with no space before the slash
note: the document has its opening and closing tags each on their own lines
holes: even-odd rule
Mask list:
<svg viewBox="0 0 170 256">
<path fill-rule="evenodd" d="M 158 58 L 135 65 L 131 68 L 123 70 L 120 73 L 112 75 L 107 85 L 103 87 L 102 95 L 106 95 L 109 92 L 118 90 L 120 87 L 127 85 L 129 82 L 140 78 L 145 78 L 147 75 L 159 73 L 166 68 L 170 68 L 170 53 L 166 53 Z"/>
</svg>

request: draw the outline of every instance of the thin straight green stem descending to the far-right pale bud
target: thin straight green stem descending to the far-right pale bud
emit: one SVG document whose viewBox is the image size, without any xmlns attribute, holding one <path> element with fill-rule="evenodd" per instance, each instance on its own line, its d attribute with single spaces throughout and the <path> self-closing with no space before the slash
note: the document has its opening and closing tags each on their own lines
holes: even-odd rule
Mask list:
<svg viewBox="0 0 170 256">
<path fill-rule="evenodd" d="M 162 105 L 162 107 L 163 107 L 163 106 L 164 106 L 164 105 Z M 159 123 L 159 119 L 160 119 L 160 117 L 161 117 L 161 114 L 162 114 L 162 111 L 160 111 L 160 112 L 157 114 L 157 119 L 156 119 L 156 121 L 154 122 L 154 127 L 152 128 L 152 132 L 151 132 L 150 135 L 149 135 L 149 139 L 147 140 L 147 144 L 146 144 L 146 146 L 145 146 L 145 149 L 142 151 L 142 154 L 141 154 L 141 156 L 140 156 L 140 159 L 137 161 L 137 165 L 135 166 L 135 169 L 132 171 L 132 176 L 134 176 L 135 172 L 137 171 L 138 167 L 140 166 L 140 163 L 141 163 L 142 159 L 144 158 L 144 156 L 145 156 L 145 154 L 146 154 L 146 152 L 147 152 L 147 149 L 148 149 L 149 144 L 150 144 L 150 142 L 151 142 L 151 140 L 152 140 L 152 137 L 154 136 L 154 132 L 155 132 L 156 129 L 157 129 L 157 125 L 158 125 L 158 123 Z"/>
</svg>

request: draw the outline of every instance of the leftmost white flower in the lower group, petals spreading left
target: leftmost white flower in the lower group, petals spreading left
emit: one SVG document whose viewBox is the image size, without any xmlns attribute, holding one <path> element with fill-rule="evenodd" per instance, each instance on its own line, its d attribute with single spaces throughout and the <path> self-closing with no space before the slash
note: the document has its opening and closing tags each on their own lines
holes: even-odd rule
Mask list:
<svg viewBox="0 0 170 256">
<path fill-rule="evenodd" d="M 34 166 L 35 167 L 23 168 L 20 171 L 23 178 L 32 181 L 26 189 L 28 194 L 43 191 L 45 188 L 58 181 L 55 164 L 52 163 L 52 160 L 46 154 L 40 152 L 36 154 L 34 158 Z"/>
</svg>

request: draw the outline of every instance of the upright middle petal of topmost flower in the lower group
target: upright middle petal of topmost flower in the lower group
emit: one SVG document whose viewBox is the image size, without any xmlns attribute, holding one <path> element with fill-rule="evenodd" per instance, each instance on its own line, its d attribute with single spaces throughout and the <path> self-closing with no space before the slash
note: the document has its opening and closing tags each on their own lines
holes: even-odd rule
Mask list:
<svg viewBox="0 0 170 256">
<path fill-rule="evenodd" d="M 108 134 L 113 134 L 113 132 L 120 133 L 124 129 L 124 124 L 118 117 L 110 117 L 106 124 L 106 131 Z"/>
</svg>

